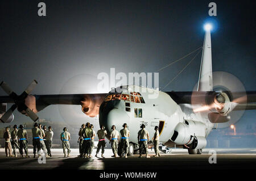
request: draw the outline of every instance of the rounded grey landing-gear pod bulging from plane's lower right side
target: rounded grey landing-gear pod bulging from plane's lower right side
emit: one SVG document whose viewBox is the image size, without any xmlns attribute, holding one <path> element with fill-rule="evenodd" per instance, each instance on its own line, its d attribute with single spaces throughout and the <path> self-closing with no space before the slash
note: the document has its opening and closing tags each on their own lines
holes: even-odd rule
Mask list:
<svg viewBox="0 0 256 181">
<path fill-rule="evenodd" d="M 176 125 L 171 140 L 177 145 L 190 145 L 193 143 L 193 147 L 202 149 L 206 146 L 205 124 L 198 121 L 185 120 L 184 123 Z"/>
</svg>

